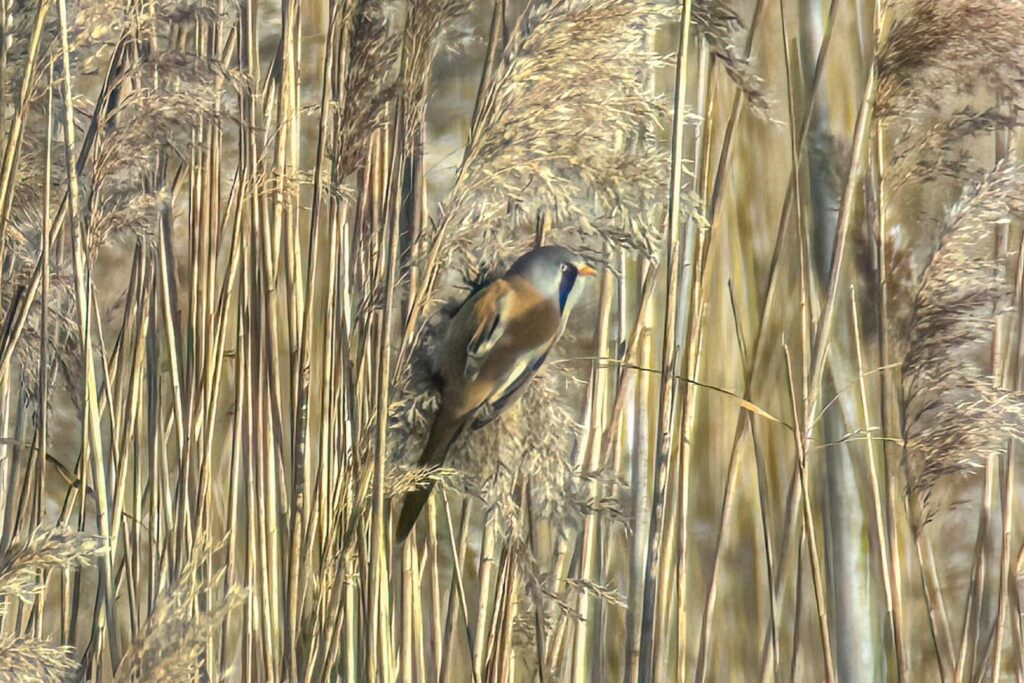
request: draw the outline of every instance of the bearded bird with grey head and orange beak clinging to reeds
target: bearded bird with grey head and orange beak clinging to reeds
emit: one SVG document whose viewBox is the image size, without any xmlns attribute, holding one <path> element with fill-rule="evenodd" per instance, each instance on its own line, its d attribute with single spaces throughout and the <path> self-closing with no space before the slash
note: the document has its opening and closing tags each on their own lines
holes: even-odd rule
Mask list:
<svg viewBox="0 0 1024 683">
<path fill-rule="evenodd" d="M 507 411 L 565 331 L 586 278 L 597 274 L 563 247 L 537 247 L 459 307 L 442 337 L 436 366 L 440 405 L 420 467 L 437 467 L 467 426 L 479 429 Z M 481 408 L 489 411 L 479 415 Z M 404 542 L 433 482 L 406 495 L 395 531 Z"/>
</svg>

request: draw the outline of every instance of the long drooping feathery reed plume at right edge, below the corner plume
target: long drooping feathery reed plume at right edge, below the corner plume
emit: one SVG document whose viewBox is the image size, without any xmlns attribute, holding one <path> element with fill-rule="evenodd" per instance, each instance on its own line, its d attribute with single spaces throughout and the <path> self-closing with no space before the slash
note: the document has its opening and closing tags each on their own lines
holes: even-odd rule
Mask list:
<svg viewBox="0 0 1024 683">
<path fill-rule="evenodd" d="M 993 385 L 981 357 L 1010 291 L 991 256 L 993 227 L 1024 217 L 1024 174 L 1000 165 L 949 210 L 913 302 L 903 356 L 904 458 L 920 523 L 964 475 L 1024 437 L 1024 395 Z M 949 501 L 952 503 L 953 501 Z"/>
</svg>

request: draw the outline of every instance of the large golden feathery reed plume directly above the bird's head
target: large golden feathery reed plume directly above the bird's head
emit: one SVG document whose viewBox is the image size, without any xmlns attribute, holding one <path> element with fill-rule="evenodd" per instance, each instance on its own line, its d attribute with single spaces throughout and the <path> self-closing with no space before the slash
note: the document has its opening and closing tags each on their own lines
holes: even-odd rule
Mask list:
<svg viewBox="0 0 1024 683">
<path fill-rule="evenodd" d="M 654 253 L 666 156 L 653 131 L 664 106 L 647 91 L 658 58 L 645 45 L 669 10 L 657 0 L 529 4 L 441 209 L 447 264 L 478 260 L 481 245 L 490 265 L 508 261 L 525 251 L 542 210 L 556 244 Z"/>
</svg>

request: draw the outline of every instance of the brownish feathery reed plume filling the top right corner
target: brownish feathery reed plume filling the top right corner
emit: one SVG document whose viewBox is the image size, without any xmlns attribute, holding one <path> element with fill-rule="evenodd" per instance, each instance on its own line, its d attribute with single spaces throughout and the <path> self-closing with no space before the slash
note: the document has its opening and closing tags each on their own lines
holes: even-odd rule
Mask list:
<svg viewBox="0 0 1024 683">
<path fill-rule="evenodd" d="M 979 86 L 1024 94 L 1018 0 L 906 0 L 879 53 L 878 115 L 943 111 Z"/>
</svg>

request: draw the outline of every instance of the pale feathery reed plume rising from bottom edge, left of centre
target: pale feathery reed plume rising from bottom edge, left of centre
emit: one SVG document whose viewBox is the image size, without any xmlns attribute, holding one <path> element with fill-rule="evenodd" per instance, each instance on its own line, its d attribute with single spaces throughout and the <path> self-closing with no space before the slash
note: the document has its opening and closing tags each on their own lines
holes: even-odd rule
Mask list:
<svg viewBox="0 0 1024 683">
<path fill-rule="evenodd" d="M 172 683 L 199 675 L 209 656 L 209 639 L 245 598 L 245 592 L 238 588 L 228 589 L 222 597 L 209 597 L 220 590 L 223 570 L 203 575 L 208 550 L 205 542 L 198 542 L 177 580 L 157 598 L 153 613 L 118 665 L 116 683 Z M 201 596 L 205 603 L 199 601 Z"/>
</svg>

